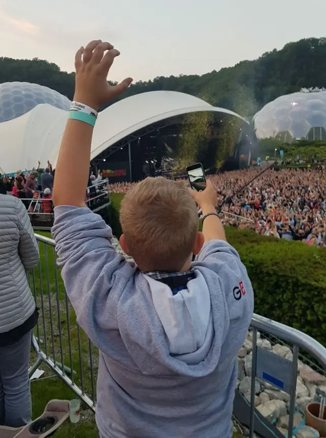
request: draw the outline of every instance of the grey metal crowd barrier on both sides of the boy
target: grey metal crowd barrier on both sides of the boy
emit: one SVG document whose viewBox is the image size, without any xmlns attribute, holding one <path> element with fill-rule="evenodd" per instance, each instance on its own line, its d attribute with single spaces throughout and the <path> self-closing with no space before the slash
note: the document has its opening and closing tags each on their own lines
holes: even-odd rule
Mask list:
<svg viewBox="0 0 326 438">
<path fill-rule="evenodd" d="M 40 318 L 33 335 L 30 376 L 38 367 L 47 366 L 95 411 L 98 350 L 76 323 L 56 264 L 55 242 L 42 235 L 36 237 L 40 263 L 29 273 L 29 281 Z M 310 336 L 257 314 L 246 342 L 252 343 L 249 436 L 254 436 L 256 382 L 267 382 L 288 394 L 288 430 L 293 430 L 298 369 L 306 363 L 326 375 L 326 349 Z M 287 351 L 285 357 L 276 354 L 280 346 Z"/>
</svg>

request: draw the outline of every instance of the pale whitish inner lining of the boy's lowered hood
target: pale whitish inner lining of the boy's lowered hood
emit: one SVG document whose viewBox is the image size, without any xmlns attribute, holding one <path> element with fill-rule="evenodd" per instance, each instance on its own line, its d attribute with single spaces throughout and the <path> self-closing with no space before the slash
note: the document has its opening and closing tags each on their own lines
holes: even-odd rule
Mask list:
<svg viewBox="0 0 326 438">
<path fill-rule="evenodd" d="M 198 364 L 205 359 L 214 337 L 210 294 L 204 276 L 195 270 L 195 278 L 175 295 L 168 285 L 144 276 L 170 354 L 188 365 Z"/>
</svg>

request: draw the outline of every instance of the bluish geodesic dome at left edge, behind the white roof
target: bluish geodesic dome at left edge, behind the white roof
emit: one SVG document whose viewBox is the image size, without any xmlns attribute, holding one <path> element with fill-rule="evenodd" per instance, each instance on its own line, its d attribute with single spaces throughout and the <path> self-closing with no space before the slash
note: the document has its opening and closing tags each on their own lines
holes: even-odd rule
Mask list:
<svg viewBox="0 0 326 438">
<path fill-rule="evenodd" d="M 71 102 L 58 91 L 43 85 L 29 82 L 0 84 L 0 123 L 19 117 L 39 104 L 49 104 L 68 111 Z"/>
</svg>

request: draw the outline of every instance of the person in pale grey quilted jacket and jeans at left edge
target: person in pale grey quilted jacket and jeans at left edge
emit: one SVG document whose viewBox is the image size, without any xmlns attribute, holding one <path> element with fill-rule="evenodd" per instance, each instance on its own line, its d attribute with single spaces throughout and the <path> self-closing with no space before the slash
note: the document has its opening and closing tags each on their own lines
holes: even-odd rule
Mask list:
<svg viewBox="0 0 326 438">
<path fill-rule="evenodd" d="M 22 202 L 0 194 L 0 425 L 31 421 L 29 361 L 38 310 L 26 270 L 39 262 L 39 249 Z"/>
</svg>

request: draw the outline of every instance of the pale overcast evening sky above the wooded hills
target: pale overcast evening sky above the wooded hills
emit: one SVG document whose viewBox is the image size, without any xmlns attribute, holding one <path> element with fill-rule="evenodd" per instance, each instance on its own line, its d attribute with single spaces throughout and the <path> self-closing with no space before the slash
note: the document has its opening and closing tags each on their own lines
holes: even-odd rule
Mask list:
<svg viewBox="0 0 326 438">
<path fill-rule="evenodd" d="M 202 75 L 325 37 L 325 0 L 0 0 L 0 56 L 72 71 L 92 39 L 121 52 L 109 79 Z"/>
</svg>

